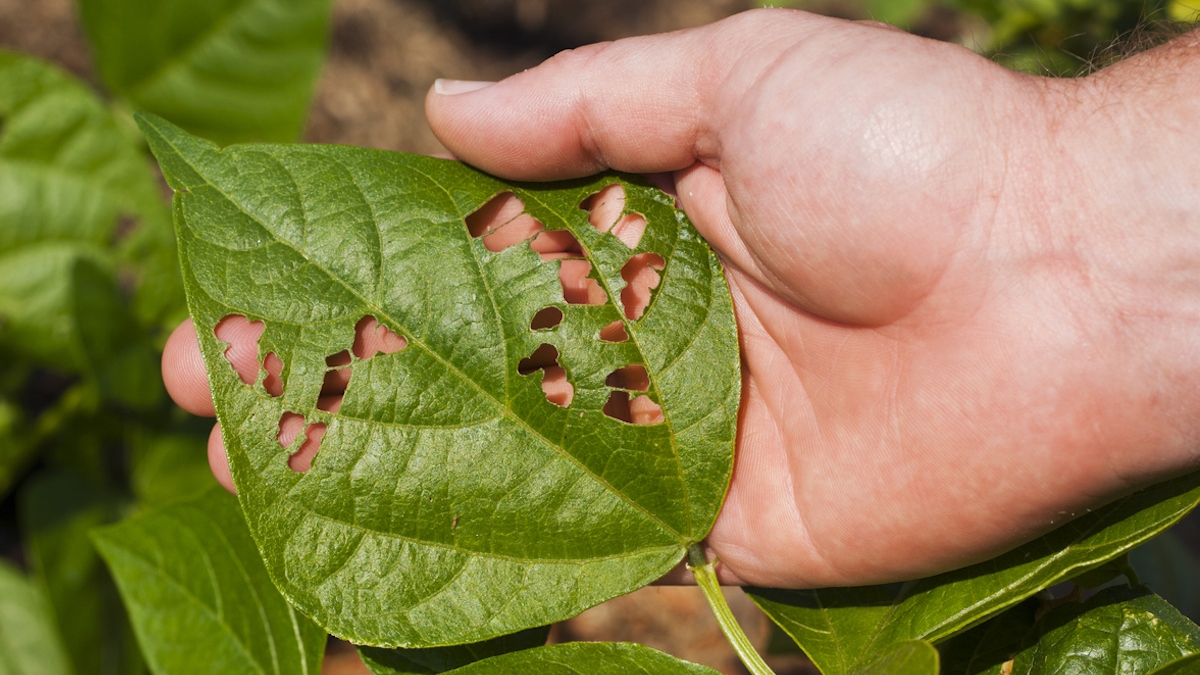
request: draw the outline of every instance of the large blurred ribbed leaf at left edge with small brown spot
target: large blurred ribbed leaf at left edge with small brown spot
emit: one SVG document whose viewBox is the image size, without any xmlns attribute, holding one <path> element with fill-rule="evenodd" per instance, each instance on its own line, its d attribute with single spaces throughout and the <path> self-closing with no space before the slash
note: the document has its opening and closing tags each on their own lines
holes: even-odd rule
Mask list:
<svg viewBox="0 0 1200 675">
<path fill-rule="evenodd" d="M 109 275 L 124 270 L 138 286 L 138 317 L 156 318 L 181 299 L 173 249 L 162 195 L 137 137 L 67 73 L 0 50 L 0 274 L 16 282 L 34 274 L 22 286 L 37 300 L 36 311 L 20 311 L 16 300 L 0 299 L 5 331 L 13 312 L 18 322 L 49 321 L 29 329 L 44 345 L 19 344 L 38 357 L 62 348 L 70 340 L 60 325 L 70 315 L 66 274 L 80 259 Z M 47 269 L 38 271 L 38 264 Z M 13 293 L 5 291 L 5 298 L 20 298 Z M 55 294 L 58 304 L 49 304 Z"/>
</svg>

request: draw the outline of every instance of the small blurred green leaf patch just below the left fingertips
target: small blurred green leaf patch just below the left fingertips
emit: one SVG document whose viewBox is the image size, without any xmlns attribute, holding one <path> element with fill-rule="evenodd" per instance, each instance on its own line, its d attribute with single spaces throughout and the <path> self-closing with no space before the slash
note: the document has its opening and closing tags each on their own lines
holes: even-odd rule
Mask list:
<svg viewBox="0 0 1200 675">
<path fill-rule="evenodd" d="M 215 485 L 208 438 L 149 436 L 134 441 L 133 494 L 143 507 L 191 498 Z"/>
</svg>

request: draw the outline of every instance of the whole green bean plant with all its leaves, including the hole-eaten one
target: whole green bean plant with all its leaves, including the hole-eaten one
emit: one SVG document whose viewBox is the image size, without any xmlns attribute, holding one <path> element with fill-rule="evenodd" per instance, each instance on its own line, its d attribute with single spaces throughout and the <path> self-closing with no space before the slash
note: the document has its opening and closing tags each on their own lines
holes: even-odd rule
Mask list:
<svg viewBox="0 0 1200 675">
<path fill-rule="evenodd" d="M 108 97 L 0 53 L 0 675 L 317 674 L 329 635 L 377 675 L 712 674 L 546 644 L 680 563 L 770 673 L 704 548 L 732 303 L 668 195 L 290 143 L 328 0 L 79 10 Z M 158 381 L 188 316 L 236 496 Z M 1196 673 L 1129 554 L 1198 503 L 1200 473 L 946 574 L 746 592 L 824 675 Z"/>
</svg>

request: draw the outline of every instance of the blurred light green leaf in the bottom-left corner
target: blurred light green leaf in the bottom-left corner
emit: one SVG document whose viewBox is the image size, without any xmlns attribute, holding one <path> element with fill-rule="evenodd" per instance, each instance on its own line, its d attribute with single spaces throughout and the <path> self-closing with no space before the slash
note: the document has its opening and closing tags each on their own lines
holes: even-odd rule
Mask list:
<svg viewBox="0 0 1200 675">
<path fill-rule="evenodd" d="M 0 560 L 0 675 L 64 675 L 71 663 L 42 593 Z"/>
</svg>

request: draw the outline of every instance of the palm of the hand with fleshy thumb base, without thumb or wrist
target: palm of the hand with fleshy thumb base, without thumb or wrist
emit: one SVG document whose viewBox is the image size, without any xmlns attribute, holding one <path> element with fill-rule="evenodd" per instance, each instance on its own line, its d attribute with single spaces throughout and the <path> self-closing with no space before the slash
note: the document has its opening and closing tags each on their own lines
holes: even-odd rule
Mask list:
<svg viewBox="0 0 1200 675">
<path fill-rule="evenodd" d="M 1099 356 L 1128 345 L 1103 330 L 1073 252 L 1052 251 L 1055 228 L 1088 223 L 1012 205 L 1036 190 L 1010 154 L 1040 133 L 1019 117 L 1034 80 L 841 28 L 755 73 L 724 112 L 720 157 L 677 174 L 726 257 L 746 374 L 709 540 L 755 584 L 944 571 L 1145 478 L 1116 458 L 1144 441 L 1138 412 L 1097 394 L 1138 389 Z M 906 58 L 838 53 L 862 42 L 846 31 Z M 814 78 L 810 50 L 836 65 Z"/>
</svg>

